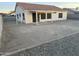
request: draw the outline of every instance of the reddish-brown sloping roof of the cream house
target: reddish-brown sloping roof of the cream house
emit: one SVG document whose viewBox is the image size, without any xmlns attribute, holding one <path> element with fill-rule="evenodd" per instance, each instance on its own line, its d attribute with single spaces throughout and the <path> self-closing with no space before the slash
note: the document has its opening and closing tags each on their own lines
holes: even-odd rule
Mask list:
<svg viewBox="0 0 79 59">
<path fill-rule="evenodd" d="M 31 4 L 31 3 L 23 3 L 17 2 L 17 6 L 22 7 L 24 10 L 53 10 L 53 11 L 63 11 L 63 9 L 52 6 L 52 5 L 40 5 L 40 4 Z"/>
</svg>

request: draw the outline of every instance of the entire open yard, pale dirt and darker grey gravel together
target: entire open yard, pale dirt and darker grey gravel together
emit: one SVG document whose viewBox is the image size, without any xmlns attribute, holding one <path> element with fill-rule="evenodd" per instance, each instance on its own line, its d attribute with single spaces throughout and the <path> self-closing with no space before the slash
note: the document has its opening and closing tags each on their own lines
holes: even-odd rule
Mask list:
<svg viewBox="0 0 79 59">
<path fill-rule="evenodd" d="M 12 55 L 79 55 L 79 20 L 37 25 L 10 21 L 4 22 L 3 28 L 6 54 L 16 51 Z"/>
</svg>

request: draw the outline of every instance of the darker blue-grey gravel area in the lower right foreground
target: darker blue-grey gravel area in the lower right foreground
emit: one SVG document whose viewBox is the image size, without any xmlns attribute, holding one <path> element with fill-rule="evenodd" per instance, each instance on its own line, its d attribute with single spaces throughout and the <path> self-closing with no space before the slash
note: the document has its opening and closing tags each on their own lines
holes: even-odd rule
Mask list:
<svg viewBox="0 0 79 59">
<path fill-rule="evenodd" d="M 79 56 L 79 33 L 15 53 L 12 56 Z"/>
</svg>

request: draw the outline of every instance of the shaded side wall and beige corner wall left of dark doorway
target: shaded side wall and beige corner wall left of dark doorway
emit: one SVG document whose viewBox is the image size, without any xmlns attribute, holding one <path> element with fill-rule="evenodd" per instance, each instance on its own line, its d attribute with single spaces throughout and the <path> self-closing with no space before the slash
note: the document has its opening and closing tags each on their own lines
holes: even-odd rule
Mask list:
<svg viewBox="0 0 79 59">
<path fill-rule="evenodd" d="M 25 20 L 23 20 L 22 13 L 25 14 Z M 21 17 L 19 19 L 17 19 L 17 17 L 16 17 L 16 21 L 24 22 L 24 23 L 32 23 L 32 13 L 29 12 L 28 10 L 23 10 L 21 7 L 17 6 L 16 15 L 17 14 L 21 14 Z"/>
</svg>

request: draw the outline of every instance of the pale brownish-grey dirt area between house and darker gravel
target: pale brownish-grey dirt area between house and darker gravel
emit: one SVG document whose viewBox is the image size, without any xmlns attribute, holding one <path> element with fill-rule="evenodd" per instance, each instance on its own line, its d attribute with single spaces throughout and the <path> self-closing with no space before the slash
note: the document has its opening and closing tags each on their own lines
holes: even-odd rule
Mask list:
<svg viewBox="0 0 79 59">
<path fill-rule="evenodd" d="M 4 23 L 4 48 L 13 52 L 22 48 L 32 48 L 65 36 L 79 33 L 79 21 L 61 21 L 39 25 Z"/>
</svg>

